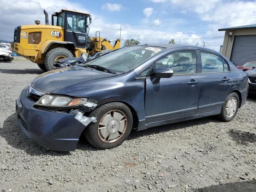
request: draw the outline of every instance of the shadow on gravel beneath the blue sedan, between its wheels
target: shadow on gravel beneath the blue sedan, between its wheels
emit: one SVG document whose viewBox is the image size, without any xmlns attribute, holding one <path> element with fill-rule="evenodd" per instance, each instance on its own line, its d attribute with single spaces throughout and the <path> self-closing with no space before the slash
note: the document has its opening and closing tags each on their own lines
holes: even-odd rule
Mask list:
<svg viewBox="0 0 256 192">
<path fill-rule="evenodd" d="M 127 140 L 135 139 L 135 138 L 138 138 L 141 136 L 158 134 L 158 133 L 171 131 L 171 130 L 189 128 L 191 126 L 207 124 L 209 122 L 221 122 L 221 121 L 219 121 L 214 116 L 209 116 L 209 117 L 204 117 L 204 118 L 199 118 L 199 119 L 194 119 L 194 120 L 188 120 L 188 121 L 184 121 L 184 122 L 178 122 L 178 123 L 167 124 L 167 125 L 163 125 L 163 126 L 152 127 L 152 128 L 148 128 L 147 130 L 142 130 L 142 131 L 132 130 L 132 132 L 128 136 Z"/>
</svg>

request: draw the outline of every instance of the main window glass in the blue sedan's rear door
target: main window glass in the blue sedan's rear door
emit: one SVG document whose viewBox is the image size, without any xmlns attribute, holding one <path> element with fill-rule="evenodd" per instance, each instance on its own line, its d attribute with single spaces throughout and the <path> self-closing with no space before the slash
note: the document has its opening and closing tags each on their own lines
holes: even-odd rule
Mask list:
<svg viewBox="0 0 256 192">
<path fill-rule="evenodd" d="M 224 71 L 223 60 L 219 56 L 201 51 L 201 59 L 203 73 L 216 73 Z"/>
</svg>

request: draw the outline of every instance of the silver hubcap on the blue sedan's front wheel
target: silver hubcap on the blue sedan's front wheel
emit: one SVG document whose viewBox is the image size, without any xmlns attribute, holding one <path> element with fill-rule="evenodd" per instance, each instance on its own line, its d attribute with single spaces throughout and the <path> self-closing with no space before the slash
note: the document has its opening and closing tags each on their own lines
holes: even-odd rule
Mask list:
<svg viewBox="0 0 256 192">
<path fill-rule="evenodd" d="M 126 115 L 120 110 L 111 110 L 100 119 L 98 136 L 103 142 L 112 143 L 124 135 L 126 127 Z"/>
</svg>

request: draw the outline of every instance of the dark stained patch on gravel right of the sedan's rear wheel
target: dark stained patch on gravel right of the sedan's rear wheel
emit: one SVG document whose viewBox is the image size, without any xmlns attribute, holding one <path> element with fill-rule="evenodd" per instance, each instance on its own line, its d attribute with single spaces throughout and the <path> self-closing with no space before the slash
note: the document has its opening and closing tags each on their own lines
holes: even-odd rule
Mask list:
<svg viewBox="0 0 256 192">
<path fill-rule="evenodd" d="M 232 139 L 238 142 L 239 144 L 247 145 L 249 142 L 250 143 L 256 142 L 255 133 L 231 129 L 229 131 L 229 134 L 232 137 Z"/>
</svg>

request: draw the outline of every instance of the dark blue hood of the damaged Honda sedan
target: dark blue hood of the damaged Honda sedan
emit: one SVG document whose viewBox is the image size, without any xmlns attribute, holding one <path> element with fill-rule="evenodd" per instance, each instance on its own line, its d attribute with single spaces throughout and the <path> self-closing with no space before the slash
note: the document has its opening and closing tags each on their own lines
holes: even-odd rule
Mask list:
<svg viewBox="0 0 256 192">
<path fill-rule="evenodd" d="M 112 76 L 116 76 L 116 74 L 110 74 L 80 66 L 71 66 L 43 73 L 32 80 L 31 86 L 41 92 L 50 93 L 72 84 Z"/>
</svg>

